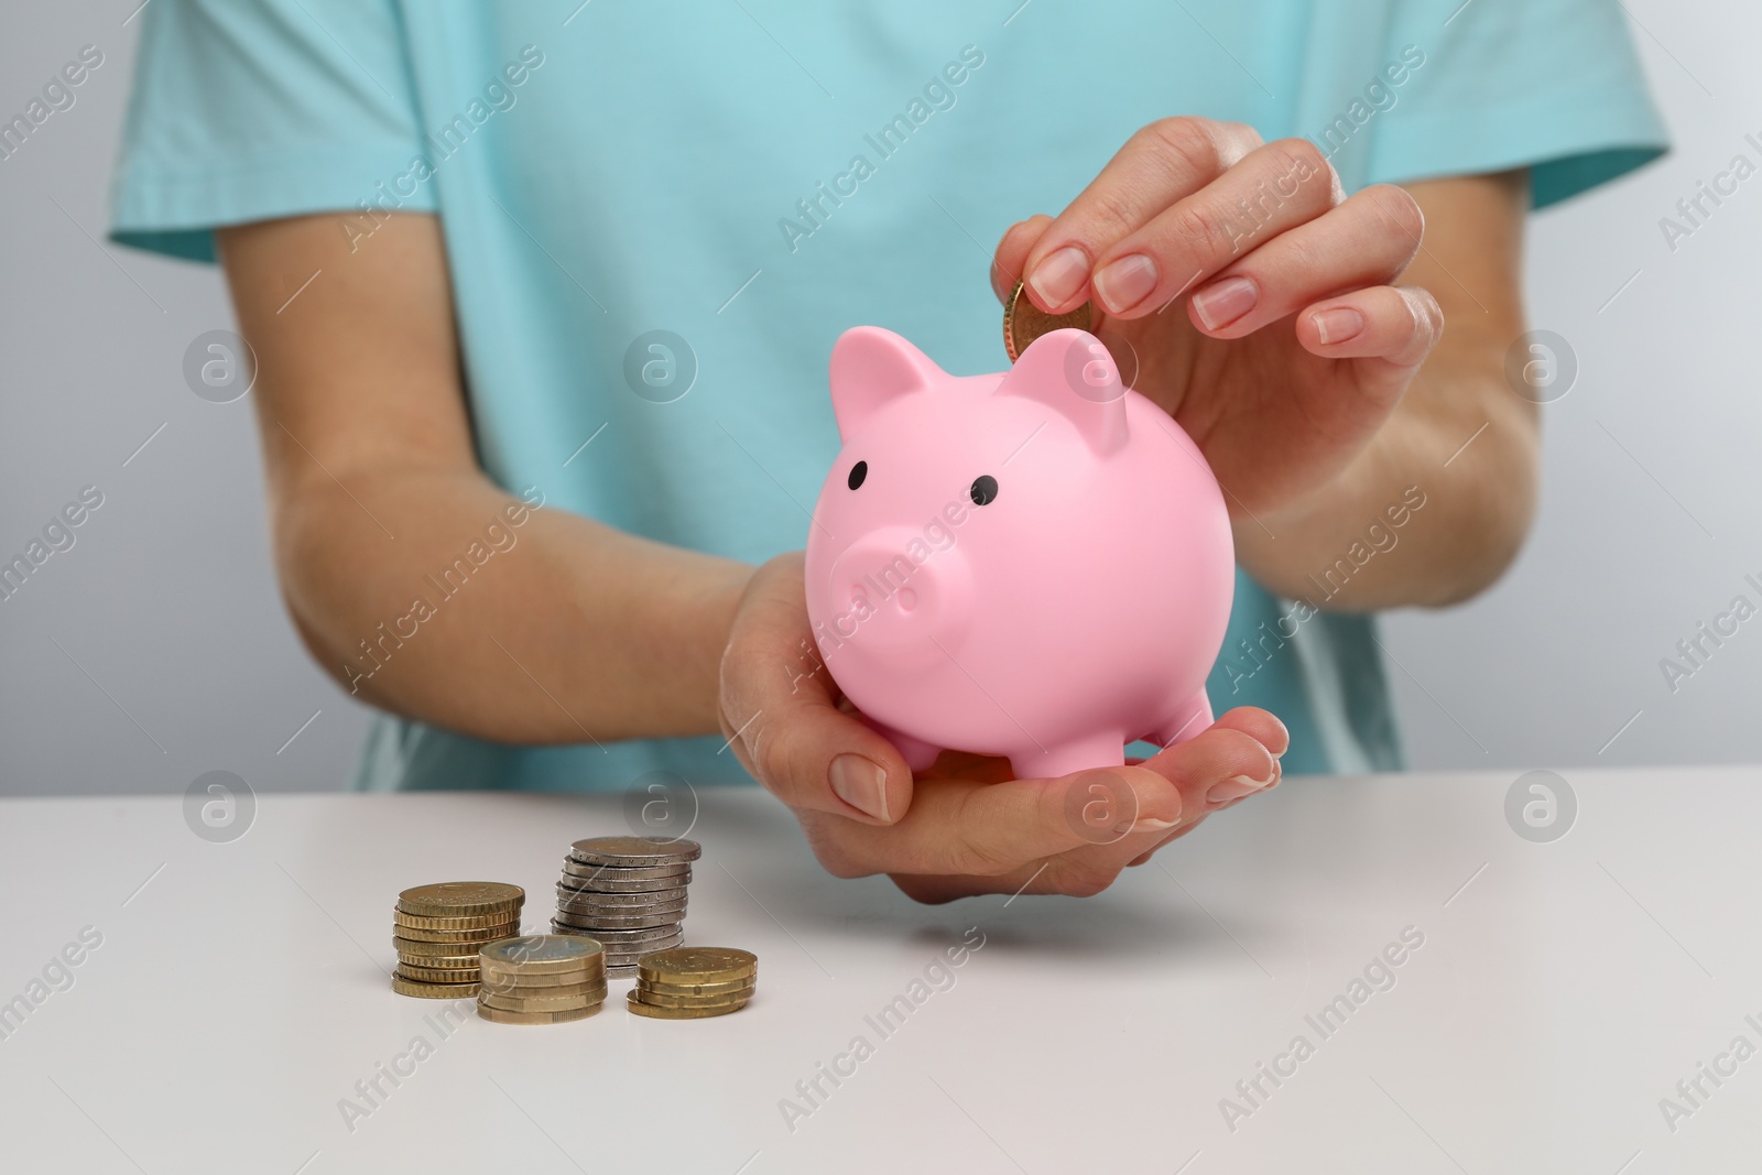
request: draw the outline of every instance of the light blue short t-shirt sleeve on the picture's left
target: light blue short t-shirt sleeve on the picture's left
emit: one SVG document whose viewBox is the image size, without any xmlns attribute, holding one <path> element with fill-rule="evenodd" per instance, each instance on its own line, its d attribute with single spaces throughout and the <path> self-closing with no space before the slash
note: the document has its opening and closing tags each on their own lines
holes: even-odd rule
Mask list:
<svg viewBox="0 0 1762 1175">
<path fill-rule="evenodd" d="M 215 227 L 381 203 L 423 153 L 391 0 L 155 0 L 141 16 L 113 241 L 213 261 Z M 432 185 L 398 208 L 433 211 Z"/>
</svg>

